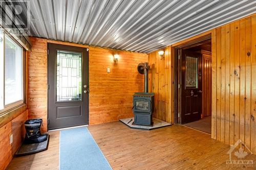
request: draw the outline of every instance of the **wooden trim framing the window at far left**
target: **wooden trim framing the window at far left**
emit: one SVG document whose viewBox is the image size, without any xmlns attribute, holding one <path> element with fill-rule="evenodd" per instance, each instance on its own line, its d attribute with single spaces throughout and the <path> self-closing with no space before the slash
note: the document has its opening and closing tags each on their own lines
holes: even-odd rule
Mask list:
<svg viewBox="0 0 256 170">
<path fill-rule="evenodd" d="M 0 31 L 2 31 L 0 29 Z M 18 107 L 22 107 L 24 105 L 26 105 L 27 108 L 27 104 L 26 104 L 26 51 L 24 49 L 24 47 L 22 45 L 20 45 L 18 43 L 18 41 L 16 41 L 12 36 L 5 34 L 5 32 L 2 32 L 2 36 L 3 36 L 3 44 L 2 47 L 3 48 L 3 89 L 1 89 L 3 91 L 3 106 L 4 108 L 0 110 L 0 117 L 6 115 L 6 114 L 11 114 L 11 112 L 15 111 Z M 7 105 L 5 105 L 5 41 L 6 41 L 6 36 L 12 41 L 14 42 L 16 45 L 18 45 L 20 48 L 22 48 L 21 54 L 22 54 L 22 66 L 23 66 L 23 74 L 22 74 L 22 80 L 23 80 L 23 100 L 19 100 L 13 103 L 9 103 Z"/>
</svg>

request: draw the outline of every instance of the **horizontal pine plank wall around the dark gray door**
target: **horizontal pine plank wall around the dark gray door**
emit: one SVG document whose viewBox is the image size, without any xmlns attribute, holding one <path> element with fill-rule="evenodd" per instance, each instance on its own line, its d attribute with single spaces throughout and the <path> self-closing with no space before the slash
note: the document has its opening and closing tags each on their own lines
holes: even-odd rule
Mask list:
<svg viewBox="0 0 256 170">
<path fill-rule="evenodd" d="M 118 51 L 118 63 L 108 48 L 52 41 L 31 37 L 28 56 L 29 118 L 41 117 L 42 131 L 47 131 L 47 42 L 89 47 L 89 124 L 117 121 L 132 117 L 133 93 L 143 91 L 143 75 L 137 71 L 140 62 L 147 62 L 147 54 Z M 111 72 L 108 74 L 106 68 Z"/>
</svg>

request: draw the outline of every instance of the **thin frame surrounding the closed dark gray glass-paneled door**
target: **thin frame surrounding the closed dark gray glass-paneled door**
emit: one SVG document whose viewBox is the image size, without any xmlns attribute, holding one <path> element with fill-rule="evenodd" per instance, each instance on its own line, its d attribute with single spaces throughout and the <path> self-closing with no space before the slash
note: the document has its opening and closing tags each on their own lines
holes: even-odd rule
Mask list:
<svg viewBox="0 0 256 170">
<path fill-rule="evenodd" d="M 86 66 L 87 66 L 87 70 L 86 72 L 88 72 L 88 125 L 90 124 L 90 117 L 89 117 L 89 101 L 90 101 L 90 93 L 89 93 L 89 82 L 90 82 L 90 77 L 89 77 L 89 47 L 88 46 L 83 46 L 83 45 L 72 45 L 72 44 L 69 44 L 69 43 L 59 43 L 58 41 L 47 41 L 47 131 L 48 131 L 48 127 L 49 127 L 49 43 L 52 43 L 52 44 L 59 44 L 59 45 L 66 45 L 66 46 L 73 46 L 73 47 L 80 47 L 80 48 L 86 48 L 87 49 L 87 52 L 88 52 L 88 57 L 86 59 L 82 58 L 82 61 L 85 61 L 86 62 Z M 68 50 L 67 50 L 68 51 Z M 82 67 L 83 69 L 83 67 Z M 84 68 L 86 69 L 86 68 Z M 82 72 L 82 75 L 83 75 L 83 72 Z M 83 91 L 83 90 L 82 90 Z M 85 104 L 86 105 L 86 104 Z M 78 125 L 79 126 L 79 125 Z M 87 126 L 87 125 L 85 125 Z M 62 128 L 61 128 L 62 129 Z M 56 130 L 56 129 L 55 129 Z"/>
</svg>

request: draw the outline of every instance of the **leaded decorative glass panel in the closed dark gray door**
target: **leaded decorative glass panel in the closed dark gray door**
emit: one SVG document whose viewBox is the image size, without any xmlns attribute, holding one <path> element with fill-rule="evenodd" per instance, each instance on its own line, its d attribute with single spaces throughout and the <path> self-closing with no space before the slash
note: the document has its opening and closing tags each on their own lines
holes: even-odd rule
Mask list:
<svg viewBox="0 0 256 170">
<path fill-rule="evenodd" d="M 82 54 L 57 50 L 56 101 L 82 100 Z"/>
</svg>

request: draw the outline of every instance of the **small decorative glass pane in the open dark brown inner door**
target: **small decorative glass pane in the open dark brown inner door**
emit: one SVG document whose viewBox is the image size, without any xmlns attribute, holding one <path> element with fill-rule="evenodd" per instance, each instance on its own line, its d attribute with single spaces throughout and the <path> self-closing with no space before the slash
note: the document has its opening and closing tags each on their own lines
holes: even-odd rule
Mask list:
<svg viewBox="0 0 256 170">
<path fill-rule="evenodd" d="M 198 88 L 198 58 L 186 57 L 186 87 Z"/>
</svg>

